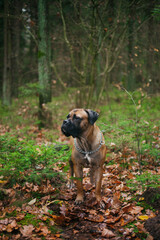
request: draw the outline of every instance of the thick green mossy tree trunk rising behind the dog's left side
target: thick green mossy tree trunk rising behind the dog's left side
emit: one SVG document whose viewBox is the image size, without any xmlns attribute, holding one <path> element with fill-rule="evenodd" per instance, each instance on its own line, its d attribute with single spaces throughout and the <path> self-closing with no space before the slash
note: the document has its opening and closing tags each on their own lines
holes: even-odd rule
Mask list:
<svg viewBox="0 0 160 240">
<path fill-rule="evenodd" d="M 51 79 L 49 62 L 49 31 L 47 22 L 47 1 L 38 1 L 38 76 L 39 76 L 39 120 L 40 127 L 44 126 L 45 114 L 43 113 L 43 104 L 51 101 Z"/>
</svg>

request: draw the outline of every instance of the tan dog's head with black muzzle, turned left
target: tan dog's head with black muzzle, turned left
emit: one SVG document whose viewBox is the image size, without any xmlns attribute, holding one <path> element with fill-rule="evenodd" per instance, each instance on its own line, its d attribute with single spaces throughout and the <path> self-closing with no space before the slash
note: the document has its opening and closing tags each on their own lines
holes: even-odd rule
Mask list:
<svg viewBox="0 0 160 240">
<path fill-rule="evenodd" d="M 69 137 L 80 137 L 90 125 L 94 125 L 99 114 L 90 109 L 73 109 L 63 121 L 62 133 Z"/>
</svg>

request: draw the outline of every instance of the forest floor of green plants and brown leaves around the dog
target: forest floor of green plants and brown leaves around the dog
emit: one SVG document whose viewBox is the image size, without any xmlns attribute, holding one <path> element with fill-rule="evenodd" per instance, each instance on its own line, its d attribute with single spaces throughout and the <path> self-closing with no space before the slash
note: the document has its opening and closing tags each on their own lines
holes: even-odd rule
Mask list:
<svg viewBox="0 0 160 240">
<path fill-rule="evenodd" d="M 88 169 L 84 169 L 83 204 L 75 205 L 76 188 L 66 187 L 71 150 L 69 140 L 60 132 L 60 125 L 72 106 L 65 106 L 62 112 L 64 101 L 61 100 L 61 105 L 59 99 L 56 101 L 57 105 L 54 102 L 54 106 L 49 106 L 49 113 L 53 108 L 55 113 L 52 120 L 50 117 L 48 120 L 48 124 L 52 121 L 51 129 L 38 129 L 36 102 L 24 100 L 10 111 L 4 113 L 3 110 L 0 122 L 0 239 L 159 240 L 158 107 L 150 100 L 150 109 L 155 106 L 152 119 L 150 112 L 145 114 L 148 103 L 142 110 L 141 124 L 143 122 L 144 126 L 143 130 L 140 128 L 141 135 L 138 132 L 141 154 L 135 147 L 134 124 L 128 123 L 128 115 L 127 121 L 123 118 L 128 102 L 116 96 L 110 116 L 110 106 L 97 109 L 102 113 L 98 121 L 107 148 L 102 186 L 105 207 L 100 208 Z M 117 101 L 120 102 L 118 108 L 121 106 L 123 111 L 114 109 Z M 119 116 L 117 121 L 115 112 Z M 129 115 L 134 116 L 131 110 Z"/>
</svg>

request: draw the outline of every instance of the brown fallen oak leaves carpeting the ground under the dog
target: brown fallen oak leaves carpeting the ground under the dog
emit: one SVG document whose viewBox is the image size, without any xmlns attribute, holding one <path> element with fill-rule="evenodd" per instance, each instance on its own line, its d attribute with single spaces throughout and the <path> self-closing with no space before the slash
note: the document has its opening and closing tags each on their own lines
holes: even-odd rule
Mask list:
<svg viewBox="0 0 160 240">
<path fill-rule="evenodd" d="M 158 212 L 137 205 L 138 197 L 139 201 L 144 200 L 143 191 L 137 188 L 132 192 L 126 180 L 135 179 L 138 164 L 122 168 L 122 156 L 136 158 L 136 153 L 127 149 L 121 154 L 110 152 L 107 161 L 114 160 L 115 163 L 106 165 L 104 170 L 103 208 L 96 202 L 88 169 L 84 169 L 85 201 L 80 206 L 74 203 L 76 188 L 68 189 L 66 184 L 57 188 L 54 180 L 47 180 L 40 186 L 28 182 L 24 186 L 15 183 L 9 189 L 5 189 L 6 183 L 1 180 L 5 198 L 0 200 L 0 239 L 139 240 L 143 234 L 148 236 L 148 240 L 153 239 L 144 223 L 156 217 Z M 59 170 L 62 171 L 63 167 L 60 166 Z M 20 192 L 22 200 L 20 206 L 17 206 L 20 200 L 17 192 Z M 42 196 L 37 197 L 37 193 Z"/>
</svg>

